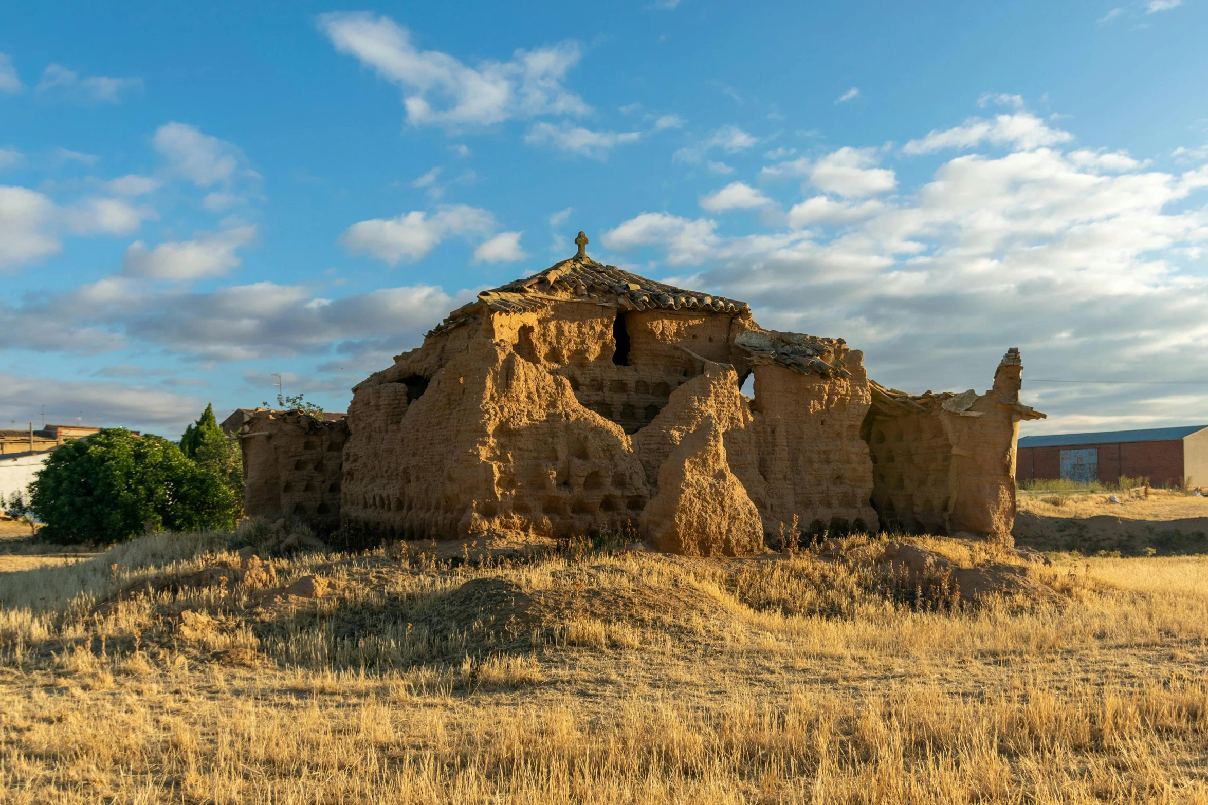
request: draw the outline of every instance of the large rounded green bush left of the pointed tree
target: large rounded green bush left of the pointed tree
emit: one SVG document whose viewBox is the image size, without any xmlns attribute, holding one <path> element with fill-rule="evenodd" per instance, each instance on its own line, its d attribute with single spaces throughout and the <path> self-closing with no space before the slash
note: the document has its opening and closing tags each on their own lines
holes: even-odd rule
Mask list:
<svg viewBox="0 0 1208 805">
<path fill-rule="evenodd" d="M 109 428 L 68 442 L 30 484 L 50 542 L 120 542 L 146 531 L 230 529 L 232 490 L 172 442 Z"/>
</svg>

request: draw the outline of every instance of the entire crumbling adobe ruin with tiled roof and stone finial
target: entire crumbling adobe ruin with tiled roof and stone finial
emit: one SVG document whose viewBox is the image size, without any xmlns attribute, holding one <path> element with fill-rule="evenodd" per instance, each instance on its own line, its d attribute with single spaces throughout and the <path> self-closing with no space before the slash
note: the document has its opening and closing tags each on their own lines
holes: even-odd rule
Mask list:
<svg viewBox="0 0 1208 805">
<path fill-rule="evenodd" d="M 637 530 L 741 555 L 803 530 L 1010 541 L 1022 367 L 986 395 L 883 389 L 842 339 L 579 253 L 484 291 L 353 391 L 347 420 L 257 412 L 246 511 L 345 538 Z M 754 373 L 754 398 L 741 393 Z"/>
</svg>

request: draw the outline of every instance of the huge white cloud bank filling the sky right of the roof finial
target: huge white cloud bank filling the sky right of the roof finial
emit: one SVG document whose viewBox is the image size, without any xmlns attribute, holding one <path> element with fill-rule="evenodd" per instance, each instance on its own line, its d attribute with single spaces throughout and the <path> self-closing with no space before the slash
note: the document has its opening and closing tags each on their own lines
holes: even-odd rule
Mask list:
<svg viewBox="0 0 1208 805">
<path fill-rule="evenodd" d="M 707 218 L 644 212 L 605 243 L 699 266 L 685 285 L 750 302 L 766 327 L 842 336 L 898 387 L 988 383 L 1020 346 L 1024 402 L 1051 415 L 1028 432 L 1208 420 L 1208 393 L 1028 384 L 1208 375 L 1198 163 L 1165 173 L 1119 151 L 1049 146 L 957 154 L 911 192 L 814 196 L 786 222 L 721 235 Z"/>
</svg>

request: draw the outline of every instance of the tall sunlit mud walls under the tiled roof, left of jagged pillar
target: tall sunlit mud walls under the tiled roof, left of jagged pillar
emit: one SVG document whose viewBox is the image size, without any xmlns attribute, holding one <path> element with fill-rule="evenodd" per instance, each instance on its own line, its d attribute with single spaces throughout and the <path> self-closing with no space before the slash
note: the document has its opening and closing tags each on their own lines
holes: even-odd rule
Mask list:
<svg viewBox="0 0 1208 805">
<path fill-rule="evenodd" d="M 657 467 L 629 437 L 704 360 L 732 360 L 733 319 L 575 301 L 480 310 L 356 387 L 345 523 L 401 538 L 635 527 Z"/>
</svg>

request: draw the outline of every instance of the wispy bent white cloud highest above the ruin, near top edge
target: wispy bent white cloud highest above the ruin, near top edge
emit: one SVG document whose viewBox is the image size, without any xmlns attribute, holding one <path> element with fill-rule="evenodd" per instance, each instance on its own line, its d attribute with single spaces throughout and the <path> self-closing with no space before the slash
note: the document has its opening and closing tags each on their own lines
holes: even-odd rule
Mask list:
<svg viewBox="0 0 1208 805">
<path fill-rule="evenodd" d="M 411 31 L 389 17 L 329 13 L 319 29 L 341 53 L 358 58 L 403 89 L 413 126 L 489 126 L 539 115 L 583 115 L 587 104 L 563 86 L 579 63 L 579 46 L 567 41 L 516 51 L 507 62 L 470 68 L 440 51 L 420 51 Z"/>
</svg>

